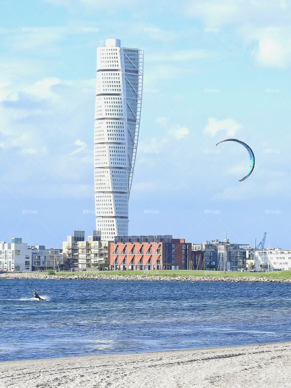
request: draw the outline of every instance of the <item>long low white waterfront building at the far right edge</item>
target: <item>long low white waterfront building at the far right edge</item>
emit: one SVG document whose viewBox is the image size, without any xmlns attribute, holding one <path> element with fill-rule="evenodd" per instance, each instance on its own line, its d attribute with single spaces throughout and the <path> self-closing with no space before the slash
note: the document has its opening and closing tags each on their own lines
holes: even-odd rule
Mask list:
<svg viewBox="0 0 291 388">
<path fill-rule="evenodd" d="M 255 260 L 254 260 L 255 258 Z M 246 249 L 246 271 L 291 270 L 291 249 Z"/>
</svg>

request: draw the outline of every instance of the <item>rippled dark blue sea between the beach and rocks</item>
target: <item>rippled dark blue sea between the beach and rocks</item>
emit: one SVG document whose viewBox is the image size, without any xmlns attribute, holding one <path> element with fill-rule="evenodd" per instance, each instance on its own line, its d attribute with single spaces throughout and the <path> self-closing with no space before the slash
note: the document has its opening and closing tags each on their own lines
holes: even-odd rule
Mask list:
<svg viewBox="0 0 291 388">
<path fill-rule="evenodd" d="M 284 283 L 0 279 L 0 361 L 291 341 L 290 296 Z"/>
</svg>

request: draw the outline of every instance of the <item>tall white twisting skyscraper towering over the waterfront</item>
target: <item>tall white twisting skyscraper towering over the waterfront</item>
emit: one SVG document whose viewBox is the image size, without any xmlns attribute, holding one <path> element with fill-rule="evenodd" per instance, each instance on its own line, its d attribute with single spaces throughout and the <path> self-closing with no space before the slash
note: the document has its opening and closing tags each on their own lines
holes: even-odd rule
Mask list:
<svg viewBox="0 0 291 388">
<path fill-rule="evenodd" d="M 101 240 L 128 235 L 128 201 L 138 144 L 143 50 L 107 39 L 97 49 L 94 128 L 96 230 Z"/>
</svg>

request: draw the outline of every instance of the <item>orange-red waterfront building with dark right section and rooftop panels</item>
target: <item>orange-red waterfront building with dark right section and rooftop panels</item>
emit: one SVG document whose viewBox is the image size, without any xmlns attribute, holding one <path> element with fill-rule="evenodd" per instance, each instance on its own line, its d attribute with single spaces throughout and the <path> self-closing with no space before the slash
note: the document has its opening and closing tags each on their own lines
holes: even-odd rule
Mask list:
<svg viewBox="0 0 291 388">
<path fill-rule="evenodd" d="M 187 269 L 192 244 L 172 236 L 115 236 L 108 242 L 110 270 Z"/>
</svg>

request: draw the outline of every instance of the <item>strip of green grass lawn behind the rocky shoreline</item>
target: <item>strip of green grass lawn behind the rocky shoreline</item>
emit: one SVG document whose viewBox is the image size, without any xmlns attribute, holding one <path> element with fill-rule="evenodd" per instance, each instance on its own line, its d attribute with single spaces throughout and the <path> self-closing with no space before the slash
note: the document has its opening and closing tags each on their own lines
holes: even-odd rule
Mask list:
<svg viewBox="0 0 291 388">
<path fill-rule="evenodd" d="M 143 275 L 143 271 L 86 271 L 86 272 L 56 272 L 56 275 Z M 167 277 L 187 277 L 209 275 L 211 277 L 267 277 L 268 279 L 291 279 L 291 271 L 274 271 L 274 272 L 231 272 L 223 271 L 188 271 L 188 270 L 157 270 L 146 271 L 147 276 L 167 276 Z"/>
</svg>

